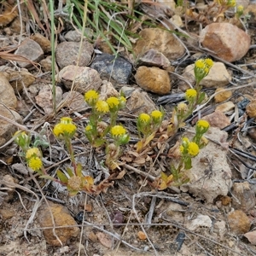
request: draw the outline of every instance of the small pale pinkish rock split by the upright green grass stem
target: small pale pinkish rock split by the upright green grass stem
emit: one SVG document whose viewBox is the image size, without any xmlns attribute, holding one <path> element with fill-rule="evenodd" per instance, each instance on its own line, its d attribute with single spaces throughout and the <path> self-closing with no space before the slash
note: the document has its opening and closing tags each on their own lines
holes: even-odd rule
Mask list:
<svg viewBox="0 0 256 256">
<path fill-rule="evenodd" d="M 44 87 L 39 90 L 38 96 L 35 96 L 38 106 L 44 109 L 45 113 L 53 112 L 53 94 L 51 90 L 51 84 L 44 85 Z M 62 90 L 61 87 L 55 87 L 55 102 L 56 106 L 61 102 Z"/>
</svg>

